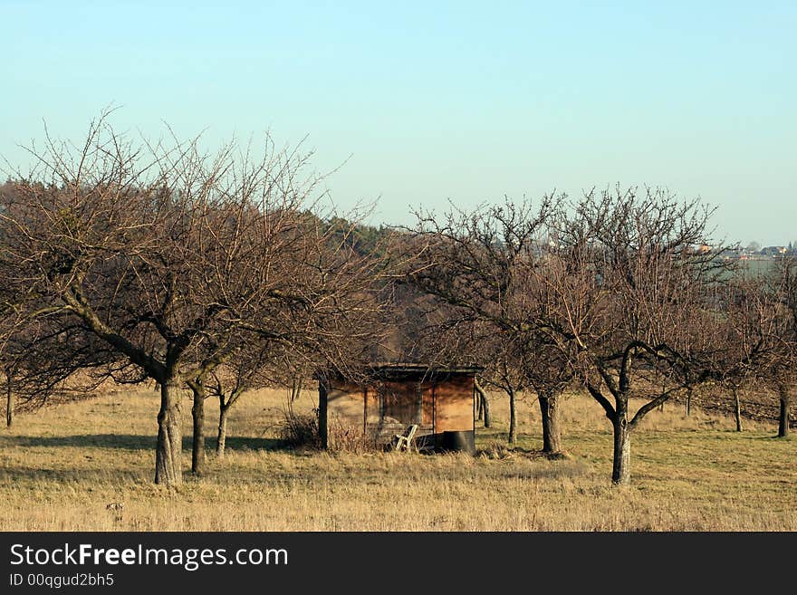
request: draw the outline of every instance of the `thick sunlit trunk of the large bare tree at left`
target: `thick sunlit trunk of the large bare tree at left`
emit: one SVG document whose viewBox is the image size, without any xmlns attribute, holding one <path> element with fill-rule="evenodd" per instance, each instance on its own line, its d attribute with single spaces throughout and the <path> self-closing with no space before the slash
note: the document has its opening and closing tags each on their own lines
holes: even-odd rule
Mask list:
<svg viewBox="0 0 797 595">
<path fill-rule="evenodd" d="M 160 411 L 158 412 L 158 446 L 155 451 L 155 483 L 180 485 L 183 482 L 180 436 L 180 389 L 175 379 L 160 385 Z"/>
</svg>

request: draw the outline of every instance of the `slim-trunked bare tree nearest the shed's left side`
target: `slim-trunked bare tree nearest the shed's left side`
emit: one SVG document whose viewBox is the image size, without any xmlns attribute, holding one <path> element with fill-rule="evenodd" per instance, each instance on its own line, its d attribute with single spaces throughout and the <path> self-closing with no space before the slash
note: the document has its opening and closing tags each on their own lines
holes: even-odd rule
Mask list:
<svg viewBox="0 0 797 595">
<path fill-rule="evenodd" d="M 303 216 L 283 305 L 238 325 L 235 354 L 208 385 L 219 402 L 218 456 L 225 452 L 229 410 L 245 391 L 290 386 L 290 405 L 307 379 L 331 370 L 360 378 L 383 347 L 391 322 L 386 287 L 402 264 L 389 257 L 392 234 L 359 245 L 360 225 L 356 214 L 350 217 Z"/>
</svg>

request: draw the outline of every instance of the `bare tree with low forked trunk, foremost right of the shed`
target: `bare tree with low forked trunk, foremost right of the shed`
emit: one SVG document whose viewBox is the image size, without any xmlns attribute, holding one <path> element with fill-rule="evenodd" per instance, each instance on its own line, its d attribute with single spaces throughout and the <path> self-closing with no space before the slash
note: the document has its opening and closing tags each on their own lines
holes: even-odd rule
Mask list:
<svg viewBox="0 0 797 595">
<path fill-rule="evenodd" d="M 612 483 L 627 484 L 631 433 L 707 378 L 700 356 L 710 346 L 696 329 L 713 323 L 725 262 L 697 249 L 711 244 L 711 211 L 666 190 L 592 191 L 574 211 L 552 250 L 567 266 L 545 272 L 559 305 L 540 326 L 577 348 L 583 382 L 612 424 Z M 633 415 L 632 397 L 644 399 Z"/>
</svg>

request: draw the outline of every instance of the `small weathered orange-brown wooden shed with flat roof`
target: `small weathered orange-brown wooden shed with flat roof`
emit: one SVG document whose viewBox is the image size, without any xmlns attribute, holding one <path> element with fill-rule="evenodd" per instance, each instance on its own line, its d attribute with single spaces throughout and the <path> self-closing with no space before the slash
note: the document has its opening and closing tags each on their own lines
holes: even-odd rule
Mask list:
<svg viewBox="0 0 797 595">
<path fill-rule="evenodd" d="M 323 446 L 362 440 L 389 444 L 418 425 L 416 445 L 439 450 L 454 437 L 474 440 L 475 375 L 480 368 L 432 368 L 424 364 L 373 364 L 367 380 L 319 379 L 319 430 Z"/>
</svg>

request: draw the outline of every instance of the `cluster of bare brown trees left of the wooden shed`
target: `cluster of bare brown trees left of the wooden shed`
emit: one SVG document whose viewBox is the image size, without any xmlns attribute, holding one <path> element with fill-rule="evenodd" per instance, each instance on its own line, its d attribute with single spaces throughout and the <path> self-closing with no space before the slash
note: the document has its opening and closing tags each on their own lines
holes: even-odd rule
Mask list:
<svg viewBox="0 0 797 595">
<path fill-rule="evenodd" d="M 378 334 L 385 270 L 312 212 L 308 155 L 269 139 L 256 156 L 172 140 L 136 145 L 101 119 L 82 146 L 34 152 L 38 168 L 0 204 L 9 395 L 155 381 L 155 482 L 167 485 L 182 476 L 181 389 L 194 394 L 200 473 L 206 395 L 223 449 L 227 409 L 286 354 L 346 369 Z"/>
</svg>

